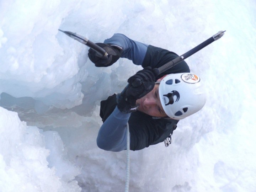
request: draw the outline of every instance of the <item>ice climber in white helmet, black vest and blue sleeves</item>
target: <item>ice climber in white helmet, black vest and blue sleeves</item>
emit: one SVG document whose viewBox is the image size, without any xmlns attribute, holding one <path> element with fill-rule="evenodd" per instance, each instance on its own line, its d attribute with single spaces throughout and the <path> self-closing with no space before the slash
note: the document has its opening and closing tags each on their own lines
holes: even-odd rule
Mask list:
<svg viewBox="0 0 256 192">
<path fill-rule="evenodd" d="M 126 150 L 126 134 L 130 134 L 131 150 L 164 141 L 169 145 L 178 121 L 199 111 L 206 102 L 200 78 L 190 73 L 185 61 L 156 76 L 154 68 L 178 55 L 133 41 L 123 34 L 114 34 L 97 44 L 108 53 L 108 59 L 103 60 L 89 49 L 89 58 L 97 67 L 110 66 L 121 57 L 144 68 L 128 79 L 128 86 L 121 93 L 101 101 L 103 124 L 98 132 L 98 147 L 108 151 Z"/>
</svg>

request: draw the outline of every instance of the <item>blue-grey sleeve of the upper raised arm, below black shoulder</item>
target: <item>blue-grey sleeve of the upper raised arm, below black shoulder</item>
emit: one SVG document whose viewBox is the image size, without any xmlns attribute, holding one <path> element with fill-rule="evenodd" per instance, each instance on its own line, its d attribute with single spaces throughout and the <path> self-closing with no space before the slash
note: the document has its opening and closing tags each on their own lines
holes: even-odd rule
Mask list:
<svg viewBox="0 0 256 192">
<path fill-rule="evenodd" d="M 132 39 L 119 33 L 114 34 L 109 39 L 106 39 L 104 43 L 108 43 L 111 46 L 122 47 L 123 52 L 121 57 L 132 60 L 135 65 L 142 65 L 146 51 L 148 49 L 147 44 L 133 41 Z"/>
</svg>

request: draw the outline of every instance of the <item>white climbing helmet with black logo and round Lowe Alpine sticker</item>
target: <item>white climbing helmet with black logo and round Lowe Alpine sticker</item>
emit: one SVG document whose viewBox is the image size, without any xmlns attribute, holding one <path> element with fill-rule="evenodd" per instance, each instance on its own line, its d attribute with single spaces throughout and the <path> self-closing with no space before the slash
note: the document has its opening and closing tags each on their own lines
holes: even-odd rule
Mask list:
<svg viewBox="0 0 256 192">
<path fill-rule="evenodd" d="M 161 80 L 159 98 L 172 119 L 183 119 L 203 108 L 206 94 L 200 78 L 193 73 L 170 74 Z"/>
</svg>

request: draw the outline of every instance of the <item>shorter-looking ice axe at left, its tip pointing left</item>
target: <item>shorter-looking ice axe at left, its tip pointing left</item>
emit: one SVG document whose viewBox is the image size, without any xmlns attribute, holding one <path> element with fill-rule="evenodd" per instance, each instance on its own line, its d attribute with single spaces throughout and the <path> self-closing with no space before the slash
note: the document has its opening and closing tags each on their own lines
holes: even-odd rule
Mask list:
<svg viewBox="0 0 256 192">
<path fill-rule="evenodd" d="M 85 38 L 85 37 L 83 37 L 83 36 L 81 36 L 79 34 L 70 32 L 70 31 L 62 31 L 62 30 L 59 30 L 59 31 L 65 33 L 67 36 L 75 39 L 76 41 L 79 41 L 80 43 L 85 44 L 86 46 L 92 48 L 93 50 L 96 51 L 96 53 L 98 54 L 98 56 L 100 58 L 108 59 L 108 57 L 107 57 L 108 53 L 102 47 L 100 47 L 97 44 L 91 42 L 87 38 Z"/>
</svg>

